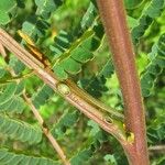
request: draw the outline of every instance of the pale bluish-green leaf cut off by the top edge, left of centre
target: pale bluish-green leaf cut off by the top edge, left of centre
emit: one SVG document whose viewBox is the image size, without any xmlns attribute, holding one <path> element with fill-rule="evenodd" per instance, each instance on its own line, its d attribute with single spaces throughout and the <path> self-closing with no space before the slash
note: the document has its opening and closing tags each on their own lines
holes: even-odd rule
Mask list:
<svg viewBox="0 0 165 165">
<path fill-rule="evenodd" d="M 48 19 L 51 13 L 63 4 L 63 0 L 35 0 L 37 6 L 36 14 Z"/>
</svg>

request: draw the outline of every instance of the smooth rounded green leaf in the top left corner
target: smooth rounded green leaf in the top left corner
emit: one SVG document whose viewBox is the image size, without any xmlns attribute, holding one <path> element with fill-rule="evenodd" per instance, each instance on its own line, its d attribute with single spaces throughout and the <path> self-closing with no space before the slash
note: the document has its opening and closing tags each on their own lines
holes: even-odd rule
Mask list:
<svg viewBox="0 0 165 165">
<path fill-rule="evenodd" d="M 16 9 L 15 0 L 0 0 L 0 24 L 6 25 L 14 16 Z"/>
</svg>

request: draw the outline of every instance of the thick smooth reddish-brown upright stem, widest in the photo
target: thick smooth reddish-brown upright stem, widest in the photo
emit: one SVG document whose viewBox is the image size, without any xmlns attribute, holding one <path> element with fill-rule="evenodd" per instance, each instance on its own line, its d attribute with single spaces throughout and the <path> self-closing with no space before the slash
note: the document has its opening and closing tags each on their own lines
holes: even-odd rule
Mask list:
<svg viewBox="0 0 165 165">
<path fill-rule="evenodd" d="M 144 107 L 122 1 L 97 0 L 123 95 L 127 129 L 135 136 L 128 158 L 133 165 L 148 165 Z"/>
</svg>

